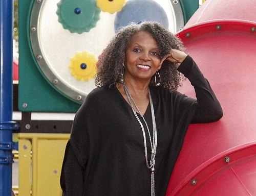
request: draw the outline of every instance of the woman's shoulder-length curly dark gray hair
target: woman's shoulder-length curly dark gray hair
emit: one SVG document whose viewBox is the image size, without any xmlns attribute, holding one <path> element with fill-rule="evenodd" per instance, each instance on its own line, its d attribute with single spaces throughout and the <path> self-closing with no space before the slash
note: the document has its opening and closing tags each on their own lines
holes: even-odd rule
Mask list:
<svg viewBox="0 0 256 196">
<path fill-rule="evenodd" d="M 170 48 L 184 51 L 184 45 L 180 39 L 161 26 L 161 24 L 148 21 L 141 22 L 140 24 L 132 22 L 118 30 L 99 58 L 97 74 L 95 76 L 95 85 L 97 87 L 112 86 L 120 81 L 123 71 L 122 63 L 125 59 L 127 46 L 131 37 L 139 31 L 146 31 L 152 34 L 157 41 L 160 59 L 169 54 Z M 184 77 L 177 71 L 178 66 L 178 63 L 172 63 L 167 60 L 163 62 L 159 70 L 161 86 L 170 90 L 177 90 L 182 85 Z M 156 86 L 154 76 L 151 79 L 150 85 Z"/>
</svg>

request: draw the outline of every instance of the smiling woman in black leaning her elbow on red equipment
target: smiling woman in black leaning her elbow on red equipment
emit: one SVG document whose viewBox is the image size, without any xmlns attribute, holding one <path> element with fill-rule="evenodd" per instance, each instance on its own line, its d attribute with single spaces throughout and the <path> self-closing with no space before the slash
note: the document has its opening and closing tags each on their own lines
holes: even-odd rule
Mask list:
<svg viewBox="0 0 256 196">
<path fill-rule="evenodd" d="M 187 127 L 223 115 L 175 35 L 156 22 L 119 30 L 96 86 L 76 113 L 62 165 L 63 195 L 164 195 Z M 189 79 L 197 100 L 177 88 Z"/>
</svg>

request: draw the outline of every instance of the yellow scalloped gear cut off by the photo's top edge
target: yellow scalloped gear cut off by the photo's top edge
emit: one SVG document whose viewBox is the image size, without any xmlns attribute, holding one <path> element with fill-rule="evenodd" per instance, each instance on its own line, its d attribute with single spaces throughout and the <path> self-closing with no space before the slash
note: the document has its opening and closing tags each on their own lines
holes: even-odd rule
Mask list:
<svg viewBox="0 0 256 196">
<path fill-rule="evenodd" d="M 109 12 L 111 14 L 121 11 L 125 0 L 97 0 L 97 6 L 102 12 Z"/>
</svg>

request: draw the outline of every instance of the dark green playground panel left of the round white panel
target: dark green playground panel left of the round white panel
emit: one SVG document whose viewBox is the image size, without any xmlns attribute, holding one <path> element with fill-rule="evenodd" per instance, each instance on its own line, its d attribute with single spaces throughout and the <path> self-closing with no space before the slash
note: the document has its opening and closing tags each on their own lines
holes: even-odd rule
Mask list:
<svg viewBox="0 0 256 196">
<path fill-rule="evenodd" d="M 34 1 L 18 1 L 19 84 L 18 109 L 28 112 L 76 112 L 80 104 L 70 100 L 44 78 L 30 44 L 29 23 Z M 26 107 L 24 107 L 26 106 Z"/>
</svg>

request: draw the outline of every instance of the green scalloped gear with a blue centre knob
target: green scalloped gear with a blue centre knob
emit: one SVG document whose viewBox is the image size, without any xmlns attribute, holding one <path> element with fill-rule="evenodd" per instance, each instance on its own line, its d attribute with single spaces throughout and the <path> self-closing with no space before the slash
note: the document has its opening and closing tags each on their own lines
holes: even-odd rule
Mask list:
<svg viewBox="0 0 256 196">
<path fill-rule="evenodd" d="M 95 0 L 61 0 L 57 6 L 58 21 L 71 33 L 89 32 L 100 19 Z"/>
</svg>

